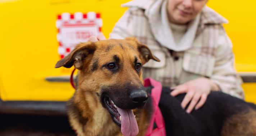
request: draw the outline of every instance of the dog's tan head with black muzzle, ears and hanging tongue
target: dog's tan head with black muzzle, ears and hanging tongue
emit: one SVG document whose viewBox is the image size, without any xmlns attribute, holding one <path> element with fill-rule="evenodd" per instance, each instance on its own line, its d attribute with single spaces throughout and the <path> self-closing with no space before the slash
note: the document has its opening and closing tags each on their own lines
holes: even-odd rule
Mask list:
<svg viewBox="0 0 256 136">
<path fill-rule="evenodd" d="M 55 68 L 74 65 L 79 69 L 77 91 L 88 91 L 96 97 L 121 126 L 122 133 L 129 135 L 137 129 L 132 109 L 147 101 L 142 65 L 150 59 L 160 61 L 135 38 L 109 39 L 78 44 Z"/>
</svg>

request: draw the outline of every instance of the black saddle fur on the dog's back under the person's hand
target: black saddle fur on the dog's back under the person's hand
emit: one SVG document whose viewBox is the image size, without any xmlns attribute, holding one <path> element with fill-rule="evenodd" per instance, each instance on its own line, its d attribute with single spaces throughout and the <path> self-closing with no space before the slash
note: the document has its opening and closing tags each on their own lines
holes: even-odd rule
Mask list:
<svg viewBox="0 0 256 136">
<path fill-rule="evenodd" d="M 151 89 L 146 89 L 149 94 Z M 163 87 L 159 102 L 167 136 L 220 136 L 223 123 L 228 117 L 249 109 L 256 110 L 253 103 L 223 92 L 211 91 L 204 106 L 189 114 L 180 105 L 186 94 L 172 97 L 170 92 L 171 89 Z"/>
</svg>

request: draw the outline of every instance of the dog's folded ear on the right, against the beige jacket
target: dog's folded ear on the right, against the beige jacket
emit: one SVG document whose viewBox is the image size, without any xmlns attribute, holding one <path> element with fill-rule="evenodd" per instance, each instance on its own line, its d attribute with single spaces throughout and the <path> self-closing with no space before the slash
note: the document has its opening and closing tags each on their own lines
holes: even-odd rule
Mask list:
<svg viewBox="0 0 256 136">
<path fill-rule="evenodd" d="M 160 62 L 160 59 L 155 57 L 151 50 L 144 44 L 140 44 L 138 43 L 138 51 L 140 52 L 140 54 L 142 55 L 142 58 L 145 60 L 145 63 L 148 62 L 148 60 L 153 59 L 157 62 Z"/>
</svg>

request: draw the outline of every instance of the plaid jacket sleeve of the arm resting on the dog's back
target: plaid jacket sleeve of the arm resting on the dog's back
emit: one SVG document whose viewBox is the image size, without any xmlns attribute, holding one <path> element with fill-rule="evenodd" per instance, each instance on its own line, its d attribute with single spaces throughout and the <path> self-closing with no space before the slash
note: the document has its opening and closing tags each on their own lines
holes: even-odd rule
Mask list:
<svg viewBox="0 0 256 136">
<path fill-rule="evenodd" d="M 234 69 L 232 43 L 223 27 L 219 33 L 215 66 L 210 78 L 218 84 L 222 92 L 244 99 L 244 92 L 241 87 L 242 79 Z"/>
</svg>

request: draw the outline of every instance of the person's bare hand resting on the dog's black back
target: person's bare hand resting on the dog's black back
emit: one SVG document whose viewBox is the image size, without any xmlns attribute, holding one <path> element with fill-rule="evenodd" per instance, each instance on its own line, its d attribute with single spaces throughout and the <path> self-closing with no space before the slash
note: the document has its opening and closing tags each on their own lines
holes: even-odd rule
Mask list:
<svg viewBox="0 0 256 136">
<path fill-rule="evenodd" d="M 210 91 L 218 91 L 219 87 L 209 78 L 202 77 L 180 84 L 179 86 L 172 87 L 171 89 L 174 89 L 170 93 L 172 96 L 187 93 L 181 103 L 181 106 L 184 109 L 190 102 L 187 108 L 187 113 L 190 113 L 195 106 L 195 110 L 202 107 Z"/>
</svg>

